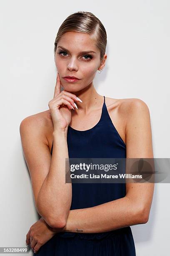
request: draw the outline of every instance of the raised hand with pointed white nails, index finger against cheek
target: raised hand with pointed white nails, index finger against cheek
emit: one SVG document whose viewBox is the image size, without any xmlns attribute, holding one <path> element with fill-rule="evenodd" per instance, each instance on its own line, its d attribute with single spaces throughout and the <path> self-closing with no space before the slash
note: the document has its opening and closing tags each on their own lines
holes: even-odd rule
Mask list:
<svg viewBox="0 0 170 256">
<path fill-rule="evenodd" d="M 57 74 L 54 98 L 48 103 L 54 131 L 65 131 L 65 128 L 67 128 L 71 122 L 71 110 L 75 108 L 74 101 L 80 101 L 75 94 L 67 91 L 60 92 L 60 89 L 61 81 L 59 74 Z"/>
</svg>

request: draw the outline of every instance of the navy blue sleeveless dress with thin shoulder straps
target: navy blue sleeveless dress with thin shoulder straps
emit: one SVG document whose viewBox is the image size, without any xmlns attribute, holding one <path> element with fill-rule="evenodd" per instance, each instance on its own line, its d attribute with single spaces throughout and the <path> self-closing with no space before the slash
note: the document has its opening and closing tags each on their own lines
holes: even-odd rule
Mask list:
<svg viewBox="0 0 170 256">
<path fill-rule="evenodd" d="M 69 158 L 126 158 L 126 145 L 112 123 L 105 96 L 99 122 L 86 131 L 69 125 L 67 145 Z M 70 210 L 93 207 L 125 195 L 125 183 L 72 183 Z M 129 226 L 103 233 L 56 233 L 34 255 L 135 256 L 136 253 Z"/>
</svg>

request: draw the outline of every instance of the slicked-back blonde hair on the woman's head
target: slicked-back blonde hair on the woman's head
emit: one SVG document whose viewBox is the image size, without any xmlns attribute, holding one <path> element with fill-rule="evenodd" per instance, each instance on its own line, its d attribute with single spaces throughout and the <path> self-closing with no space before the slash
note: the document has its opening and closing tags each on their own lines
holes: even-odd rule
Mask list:
<svg viewBox="0 0 170 256">
<path fill-rule="evenodd" d="M 107 34 L 101 21 L 90 12 L 73 13 L 63 21 L 55 38 L 54 54 L 62 35 L 71 31 L 90 34 L 96 41 L 96 47 L 100 51 L 100 61 L 102 61 L 107 45 Z"/>
</svg>

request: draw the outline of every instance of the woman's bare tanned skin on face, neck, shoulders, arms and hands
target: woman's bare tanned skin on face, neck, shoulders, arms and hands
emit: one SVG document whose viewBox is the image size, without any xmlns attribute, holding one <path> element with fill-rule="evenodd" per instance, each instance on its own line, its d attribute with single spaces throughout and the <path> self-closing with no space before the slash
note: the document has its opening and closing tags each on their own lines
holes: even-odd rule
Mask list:
<svg viewBox="0 0 170 256">
<path fill-rule="evenodd" d="M 58 46 L 62 46 L 68 51 L 59 55 L 58 53 L 63 50 Z M 95 51 L 95 54 L 90 54 L 92 59 L 85 60 L 85 56 L 87 58 L 89 54 L 82 55 L 80 52 L 89 50 Z M 45 200 L 43 196 L 47 191 L 48 183 L 49 187 L 51 186 L 50 180 L 53 179 L 57 182 L 63 178 L 61 174 L 55 176 L 57 175 L 56 169 L 54 167 L 52 169 L 50 163 L 57 166 L 58 161 L 55 162 L 55 159 L 59 159 L 60 155 L 63 158 L 67 157 L 65 140 L 68 125 L 76 130 L 84 131 L 95 126 L 100 119 L 103 96 L 95 90 L 93 79 L 97 70 L 104 68 L 106 59 L 107 55 L 105 54 L 102 61 L 100 60 L 100 51 L 96 48 L 95 41 L 90 35 L 77 32 L 65 33 L 58 42 L 55 54 L 58 75 L 54 97 L 49 102 L 50 110 L 29 116 L 20 124 L 20 135 L 32 180 L 35 205 L 39 213 L 42 212 L 42 215 L 40 214 L 42 217 L 30 227 L 26 236 L 27 244 L 30 244 L 34 251 L 38 251 L 57 232 L 100 233 L 148 222 L 153 200 L 153 183 L 127 183 L 125 197 L 95 207 L 76 210 L 69 210 L 71 184 L 65 184 L 65 187 L 60 187 L 58 191 L 55 191 L 51 202 L 54 203 L 53 205 L 60 205 L 56 195 L 63 196 L 62 199 L 67 199 L 64 204 L 67 205 L 67 208 L 61 204 L 60 215 L 56 212 L 50 218 L 48 218 L 49 213 L 45 208 L 47 201 L 44 201 L 45 204 L 43 204 L 40 200 L 41 195 Z M 63 79 L 67 75 L 73 75 L 80 80 L 76 83 L 68 83 Z M 62 92 L 61 86 L 64 89 Z M 76 96 L 82 102 L 78 101 Z M 78 109 L 75 108 L 74 102 Z M 105 103 L 112 123 L 126 143 L 127 158 L 153 158 L 150 113 L 145 102 L 140 99 L 119 100 L 105 97 Z M 75 108 L 74 110 L 72 106 Z M 37 126 L 39 127 L 38 134 L 36 133 Z M 30 142 L 26 141 L 25 134 L 28 135 L 28 133 L 31 143 L 39 141 L 36 148 L 36 159 Z M 52 140 L 54 141 L 53 158 L 50 155 Z M 42 146 L 42 142 L 45 146 Z M 36 145 L 33 146 L 36 147 Z M 28 148 L 30 148 L 29 151 Z M 60 155 L 57 154 L 58 148 L 60 148 Z M 51 168 L 50 172 L 49 168 Z M 61 169 L 61 166 L 58 166 L 58 169 Z M 51 174 L 49 175 L 49 173 Z M 60 186 L 61 183 L 56 184 Z M 56 184 L 53 189 L 57 187 Z M 62 184 L 62 186 L 64 185 Z M 60 191 L 65 194 L 59 194 Z M 50 196 L 51 194 L 47 194 L 48 198 Z M 51 206 L 47 205 L 47 209 L 49 207 L 51 209 L 52 203 Z M 62 219 L 60 223 L 54 221 L 59 218 Z"/>
</svg>

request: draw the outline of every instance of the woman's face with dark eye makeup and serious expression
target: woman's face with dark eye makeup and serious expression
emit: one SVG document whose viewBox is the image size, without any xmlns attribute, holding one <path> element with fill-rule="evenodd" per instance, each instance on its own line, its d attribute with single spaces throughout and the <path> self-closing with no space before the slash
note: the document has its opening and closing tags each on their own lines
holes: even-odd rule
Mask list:
<svg viewBox="0 0 170 256">
<path fill-rule="evenodd" d="M 100 63 L 100 51 L 89 34 L 67 32 L 58 41 L 55 65 L 64 90 L 77 92 L 90 85 L 101 67 Z M 66 76 L 80 80 L 68 82 L 64 79 Z"/>
</svg>

